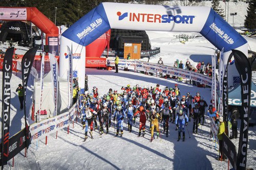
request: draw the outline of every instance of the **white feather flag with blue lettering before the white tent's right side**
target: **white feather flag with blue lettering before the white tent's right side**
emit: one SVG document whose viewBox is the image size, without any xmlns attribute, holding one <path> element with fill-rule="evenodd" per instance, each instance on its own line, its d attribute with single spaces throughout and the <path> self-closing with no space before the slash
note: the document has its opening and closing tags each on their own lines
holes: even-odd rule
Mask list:
<svg viewBox="0 0 256 170">
<path fill-rule="evenodd" d="M 59 69 L 58 69 L 58 62 L 57 59 L 49 53 L 49 59 L 50 59 L 50 65 L 51 65 L 51 71 L 52 71 L 52 83 L 53 83 L 53 101 L 54 101 L 54 112 L 53 116 L 57 115 L 57 104 L 58 104 L 58 75 L 59 75 Z"/>
</svg>

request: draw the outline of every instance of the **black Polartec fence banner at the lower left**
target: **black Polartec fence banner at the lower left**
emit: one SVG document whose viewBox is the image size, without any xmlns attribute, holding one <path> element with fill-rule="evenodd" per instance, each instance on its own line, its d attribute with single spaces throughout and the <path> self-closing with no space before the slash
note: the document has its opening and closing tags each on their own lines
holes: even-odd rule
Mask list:
<svg viewBox="0 0 256 170">
<path fill-rule="evenodd" d="M 7 161 L 12 159 L 15 155 L 17 155 L 20 151 L 22 151 L 26 147 L 26 136 L 25 136 L 25 128 L 9 139 L 9 155 Z M 1 143 L 2 146 L 2 143 Z M 2 162 L 0 161 L 0 166 Z"/>
</svg>

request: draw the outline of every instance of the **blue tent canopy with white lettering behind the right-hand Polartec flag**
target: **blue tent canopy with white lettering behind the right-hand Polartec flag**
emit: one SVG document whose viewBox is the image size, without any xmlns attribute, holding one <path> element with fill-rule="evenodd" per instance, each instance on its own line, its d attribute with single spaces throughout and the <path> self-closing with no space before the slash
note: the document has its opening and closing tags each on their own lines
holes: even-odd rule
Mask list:
<svg viewBox="0 0 256 170">
<path fill-rule="evenodd" d="M 256 85 L 251 82 L 251 107 L 256 107 Z M 241 106 L 241 85 L 234 86 L 228 92 L 228 105 Z"/>
</svg>

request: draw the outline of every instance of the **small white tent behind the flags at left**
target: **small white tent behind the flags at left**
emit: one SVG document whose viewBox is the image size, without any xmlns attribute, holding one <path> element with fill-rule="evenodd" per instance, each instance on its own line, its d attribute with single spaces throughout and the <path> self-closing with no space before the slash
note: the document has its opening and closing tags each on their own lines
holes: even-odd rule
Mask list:
<svg viewBox="0 0 256 170">
<path fill-rule="evenodd" d="M 41 116 L 41 118 L 52 117 L 54 111 L 54 102 L 53 102 L 53 83 L 51 79 L 51 71 L 48 72 L 44 77 L 44 87 L 42 89 L 42 104 L 41 110 L 47 111 L 47 117 Z M 33 101 L 35 107 L 35 113 L 39 110 L 40 105 L 40 78 L 34 80 L 34 94 Z M 67 111 L 68 106 L 68 92 L 69 92 L 69 83 L 68 80 L 58 77 L 58 106 L 57 106 L 57 115 Z"/>
</svg>

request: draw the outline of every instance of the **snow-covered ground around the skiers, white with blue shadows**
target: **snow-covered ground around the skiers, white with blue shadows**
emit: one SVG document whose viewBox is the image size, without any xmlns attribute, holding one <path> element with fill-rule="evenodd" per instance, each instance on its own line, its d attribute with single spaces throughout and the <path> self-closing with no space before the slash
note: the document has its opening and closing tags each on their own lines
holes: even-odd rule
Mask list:
<svg viewBox="0 0 256 170">
<path fill-rule="evenodd" d="M 205 2 L 205 4 L 208 3 L 210 2 Z M 223 2 L 220 3 L 224 4 Z M 234 16 L 236 26 L 243 23 L 243 16 L 246 14 L 245 5 L 247 6 L 247 4 L 240 2 L 237 4 L 229 3 L 229 12 L 238 12 L 238 16 Z M 236 18 L 240 19 L 236 20 Z M 184 62 L 189 59 L 194 65 L 198 61 L 207 63 L 210 62 L 210 56 L 216 50 L 215 46 L 204 37 L 189 39 L 185 44 L 182 44 L 174 37 L 174 35 L 182 33 L 147 32 L 147 34 L 151 39 L 152 46 L 161 47 L 161 53 L 150 60 L 153 63 L 157 63 L 160 57 L 165 65 L 173 65 L 176 59 Z M 186 34 L 200 36 L 197 33 Z M 254 48 L 255 51 L 255 40 L 245 38 L 249 42 L 251 50 Z M 20 51 L 20 54 L 24 53 Z M 165 86 L 174 87 L 174 84 L 178 84 L 181 95 L 186 94 L 186 92 L 196 95 L 196 92 L 199 91 L 208 104 L 210 101 L 209 88 L 199 88 L 190 84 L 175 82 L 172 79 L 166 80 L 122 70 L 115 74 L 114 70 L 86 69 L 86 74 L 89 77 L 89 89 L 97 86 L 100 96 L 103 96 L 109 88 L 121 92 L 121 87 L 127 84 L 131 84 L 132 87 L 136 84 L 150 87 L 158 83 L 161 89 Z M 22 82 L 20 77 L 20 72 L 18 72 L 17 76 L 14 74 L 11 79 L 10 136 L 25 127 L 24 112 L 19 110 L 18 96 L 15 92 L 17 85 Z M 2 74 L 0 74 L 0 80 L 2 80 Z M 2 86 L 0 93 L 2 93 Z M 30 78 L 27 88 L 27 110 L 29 110 L 32 102 L 32 93 L 33 78 Z M 2 109 L 2 105 L 0 105 L 0 109 Z M 168 137 L 161 134 L 160 138 L 149 142 L 150 133 L 147 122 L 145 137 L 137 137 L 138 120 L 132 133 L 126 131 L 126 123 L 124 123 L 122 137 L 113 137 L 115 130 L 112 126 L 109 134 L 103 134 L 100 137 L 98 130 L 96 130 L 93 132 L 94 139 L 89 137 L 86 142 L 83 142 L 84 130 L 82 130 L 79 118 L 78 123 L 74 124 L 74 128 L 71 126 L 70 134 L 67 134 L 67 128 L 65 128 L 58 132 L 57 139 L 55 139 L 56 134 L 48 136 L 47 145 L 44 144 L 44 140 L 40 140 L 38 146 L 36 143 L 32 143 L 27 158 L 24 157 L 24 151 L 16 155 L 14 169 L 227 169 L 226 161 L 216 160 L 219 156 L 218 144 L 217 149 L 215 149 L 215 143 L 209 137 L 210 128 L 207 116 L 206 124 L 199 126 L 199 132 L 196 135 L 192 133 L 193 122 L 188 123 L 187 129 L 185 129 L 186 139 L 184 142 L 177 141 L 178 132 L 175 131 L 174 124 L 169 126 Z M 232 141 L 238 148 L 239 139 L 232 139 Z M 249 127 L 248 144 L 247 167 L 256 168 L 256 127 Z M 10 160 L 5 168 L 12 168 L 11 164 Z"/>
</svg>

